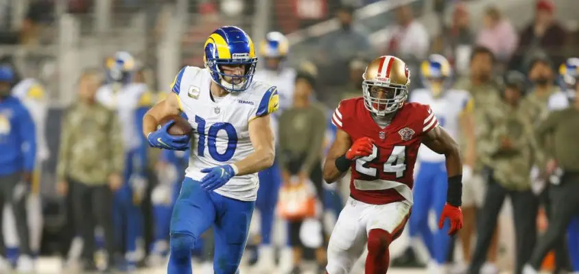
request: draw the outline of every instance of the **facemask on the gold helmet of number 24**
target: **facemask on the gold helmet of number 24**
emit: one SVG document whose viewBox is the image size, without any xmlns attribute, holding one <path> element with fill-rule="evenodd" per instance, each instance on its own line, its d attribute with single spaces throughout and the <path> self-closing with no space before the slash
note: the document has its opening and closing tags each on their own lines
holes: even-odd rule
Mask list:
<svg viewBox="0 0 579 274">
<path fill-rule="evenodd" d="M 364 105 L 375 116 L 383 117 L 399 110 L 408 97 L 408 86 L 364 80 Z"/>
</svg>

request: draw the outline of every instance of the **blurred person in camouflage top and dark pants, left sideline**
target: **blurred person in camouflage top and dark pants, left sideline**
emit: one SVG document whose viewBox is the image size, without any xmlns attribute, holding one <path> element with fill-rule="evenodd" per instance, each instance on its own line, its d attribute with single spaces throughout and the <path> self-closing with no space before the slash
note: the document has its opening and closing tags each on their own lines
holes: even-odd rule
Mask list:
<svg viewBox="0 0 579 274">
<path fill-rule="evenodd" d="M 113 266 L 113 191 L 123 183 L 123 146 L 115 112 L 95 101 L 102 82 L 99 71 L 85 71 L 78 83 L 78 101 L 62 120 L 56 173 L 58 192 L 70 193 L 76 233 L 83 238 L 82 268 L 96 269 L 95 226 L 104 230 L 108 267 Z"/>
</svg>

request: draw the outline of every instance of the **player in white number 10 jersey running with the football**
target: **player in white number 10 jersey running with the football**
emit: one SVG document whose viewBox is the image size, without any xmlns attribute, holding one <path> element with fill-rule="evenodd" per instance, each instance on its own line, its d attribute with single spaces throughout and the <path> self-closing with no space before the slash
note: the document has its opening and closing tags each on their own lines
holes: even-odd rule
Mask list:
<svg viewBox="0 0 579 274">
<path fill-rule="evenodd" d="M 204 45 L 205 68 L 185 66 L 171 85 L 175 96 L 157 103 L 143 120 L 152 147 L 184 150 L 189 167 L 175 203 L 167 273 L 191 273 L 191 249 L 213 226 L 217 274 L 238 273 L 255 207 L 257 172 L 275 158 L 270 115 L 279 107 L 275 86 L 252 81 L 254 44 L 239 27 L 216 29 Z M 171 121 L 185 112 L 193 138 L 171 136 Z"/>
</svg>

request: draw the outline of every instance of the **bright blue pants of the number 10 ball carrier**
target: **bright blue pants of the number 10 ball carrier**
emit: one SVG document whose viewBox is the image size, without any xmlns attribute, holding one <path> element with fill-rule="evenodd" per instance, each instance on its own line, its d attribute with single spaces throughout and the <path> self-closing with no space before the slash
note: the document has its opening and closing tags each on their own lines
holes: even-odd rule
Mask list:
<svg viewBox="0 0 579 274">
<path fill-rule="evenodd" d="M 185 178 L 171 218 L 171 253 L 167 274 L 190 274 L 191 249 L 213 226 L 215 274 L 239 273 L 255 201 L 239 201 L 203 190 Z"/>
</svg>

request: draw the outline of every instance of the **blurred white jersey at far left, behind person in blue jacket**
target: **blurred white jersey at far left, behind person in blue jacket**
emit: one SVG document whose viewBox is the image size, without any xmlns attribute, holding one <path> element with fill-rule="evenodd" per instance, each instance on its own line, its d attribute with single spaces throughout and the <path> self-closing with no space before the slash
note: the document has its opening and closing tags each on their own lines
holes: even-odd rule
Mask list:
<svg viewBox="0 0 579 274">
<path fill-rule="evenodd" d="M 28 112 L 30 112 L 32 120 L 34 120 L 34 125 L 36 126 L 36 159 L 40 162 L 47 160 L 50 156 L 45 136 L 48 102 L 43 86 L 36 79 L 26 78 L 12 88 L 12 95 L 20 99 Z"/>
</svg>

